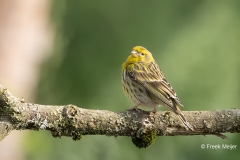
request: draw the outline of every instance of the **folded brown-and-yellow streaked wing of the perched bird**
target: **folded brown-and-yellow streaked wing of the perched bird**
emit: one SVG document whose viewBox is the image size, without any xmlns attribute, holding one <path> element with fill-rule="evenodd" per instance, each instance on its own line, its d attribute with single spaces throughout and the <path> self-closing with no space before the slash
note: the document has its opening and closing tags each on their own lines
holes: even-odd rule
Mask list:
<svg viewBox="0 0 240 160">
<path fill-rule="evenodd" d="M 129 74 L 134 80 L 146 88 L 150 96 L 155 96 L 167 107 L 173 108 L 173 103 L 183 106 L 172 86 L 166 81 L 156 62 L 148 65 L 137 64 L 134 66 L 134 69 L 132 67 L 132 69 L 129 70 Z"/>
</svg>

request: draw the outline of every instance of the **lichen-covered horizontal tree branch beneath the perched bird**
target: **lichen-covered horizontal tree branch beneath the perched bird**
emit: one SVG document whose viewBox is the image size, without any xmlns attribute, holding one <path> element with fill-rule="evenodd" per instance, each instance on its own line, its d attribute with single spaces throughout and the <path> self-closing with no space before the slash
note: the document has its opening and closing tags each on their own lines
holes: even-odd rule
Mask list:
<svg viewBox="0 0 240 160">
<path fill-rule="evenodd" d="M 130 136 L 147 147 L 155 136 L 216 135 L 240 132 L 240 109 L 184 112 L 194 131 L 186 130 L 172 112 L 90 110 L 74 105 L 51 106 L 25 103 L 0 85 L 0 140 L 11 130 L 48 130 L 53 137 L 82 135 Z"/>
</svg>

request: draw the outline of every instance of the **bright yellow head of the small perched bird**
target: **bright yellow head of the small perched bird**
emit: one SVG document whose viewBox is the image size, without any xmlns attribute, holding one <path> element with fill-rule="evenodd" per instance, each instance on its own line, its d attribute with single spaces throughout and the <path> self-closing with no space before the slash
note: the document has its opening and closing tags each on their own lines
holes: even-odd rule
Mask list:
<svg viewBox="0 0 240 160">
<path fill-rule="evenodd" d="M 122 69 L 125 69 L 128 65 L 133 63 L 150 63 L 153 60 L 152 54 L 146 48 L 136 46 L 133 47 L 127 61 L 122 64 Z"/>
</svg>

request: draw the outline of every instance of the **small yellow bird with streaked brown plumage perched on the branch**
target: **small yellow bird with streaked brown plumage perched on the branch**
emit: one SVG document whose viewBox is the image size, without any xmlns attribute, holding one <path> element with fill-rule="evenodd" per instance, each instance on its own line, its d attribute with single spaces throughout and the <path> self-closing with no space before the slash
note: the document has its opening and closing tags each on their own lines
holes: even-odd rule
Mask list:
<svg viewBox="0 0 240 160">
<path fill-rule="evenodd" d="M 132 49 L 127 61 L 122 64 L 122 87 L 138 110 L 138 106 L 163 105 L 178 115 L 186 128 L 193 131 L 179 106 L 183 106 L 176 92 L 165 79 L 152 54 L 142 46 Z"/>
</svg>

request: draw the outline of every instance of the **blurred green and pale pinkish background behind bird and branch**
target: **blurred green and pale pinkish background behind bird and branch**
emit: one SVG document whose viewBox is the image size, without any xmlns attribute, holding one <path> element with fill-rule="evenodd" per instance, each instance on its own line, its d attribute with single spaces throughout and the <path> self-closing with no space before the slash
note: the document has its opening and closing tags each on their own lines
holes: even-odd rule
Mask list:
<svg viewBox="0 0 240 160">
<path fill-rule="evenodd" d="M 0 0 L 0 84 L 27 102 L 124 111 L 121 64 L 149 49 L 183 110 L 238 108 L 240 1 Z M 167 110 L 161 108 L 159 110 Z M 237 159 L 239 134 L 157 137 L 147 149 L 129 137 L 52 138 L 14 131 L 1 160 Z M 232 144 L 235 150 L 201 149 Z"/>
</svg>

